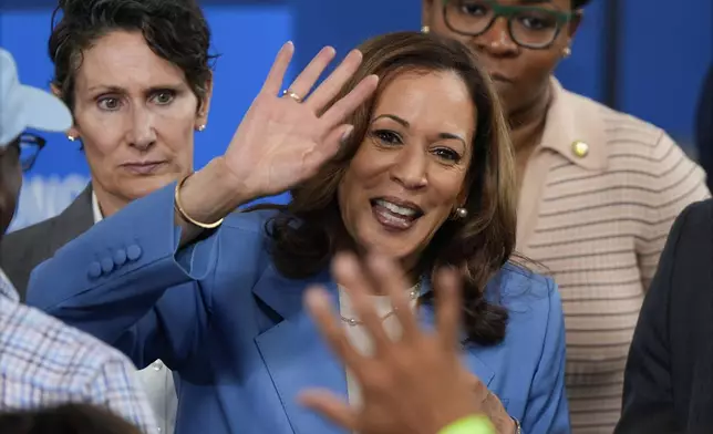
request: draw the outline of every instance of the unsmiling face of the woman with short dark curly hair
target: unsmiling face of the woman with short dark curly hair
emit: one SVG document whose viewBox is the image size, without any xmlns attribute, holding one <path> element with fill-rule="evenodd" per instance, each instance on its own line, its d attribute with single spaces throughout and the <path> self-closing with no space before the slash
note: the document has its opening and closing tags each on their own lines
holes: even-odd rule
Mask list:
<svg viewBox="0 0 713 434">
<path fill-rule="evenodd" d="M 114 31 L 83 52 L 74 101 L 70 134 L 82 138 L 104 214 L 193 169 L 208 99 L 199 104 L 184 72 L 140 32 Z"/>
</svg>

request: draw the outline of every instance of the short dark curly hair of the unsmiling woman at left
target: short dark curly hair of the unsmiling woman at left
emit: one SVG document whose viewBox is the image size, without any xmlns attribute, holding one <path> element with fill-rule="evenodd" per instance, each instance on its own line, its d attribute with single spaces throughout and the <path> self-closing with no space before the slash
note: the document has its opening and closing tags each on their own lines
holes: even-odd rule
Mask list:
<svg viewBox="0 0 713 434">
<path fill-rule="evenodd" d="M 62 18 L 55 24 L 59 12 Z M 60 0 L 52 24 L 52 84 L 70 108 L 74 107 L 74 80 L 83 51 L 115 30 L 141 32 L 156 55 L 180 68 L 198 101 L 205 101 L 216 56 L 208 53 L 210 29 L 196 1 Z"/>
</svg>

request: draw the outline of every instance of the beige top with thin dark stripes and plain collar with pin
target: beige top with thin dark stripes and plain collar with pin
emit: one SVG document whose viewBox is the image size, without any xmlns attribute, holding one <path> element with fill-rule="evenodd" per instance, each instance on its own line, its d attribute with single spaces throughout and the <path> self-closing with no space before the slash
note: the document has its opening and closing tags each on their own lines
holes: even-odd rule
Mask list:
<svg viewBox="0 0 713 434">
<path fill-rule="evenodd" d="M 710 196 L 661 128 L 552 80 L 541 143 L 523 175 L 517 250 L 559 285 L 575 434 L 611 434 L 644 291 L 669 229 Z"/>
</svg>

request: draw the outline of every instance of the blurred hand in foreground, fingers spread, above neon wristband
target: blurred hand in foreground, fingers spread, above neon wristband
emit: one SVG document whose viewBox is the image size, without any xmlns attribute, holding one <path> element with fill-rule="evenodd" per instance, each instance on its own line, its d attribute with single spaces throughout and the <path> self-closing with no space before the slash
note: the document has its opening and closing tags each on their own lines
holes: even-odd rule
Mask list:
<svg viewBox="0 0 713 434">
<path fill-rule="evenodd" d="M 482 401 L 474 399 L 473 383 L 466 380 L 458 360 L 461 283 L 455 271 L 441 271 L 434 282 L 435 332 L 420 329 L 404 290 L 409 285 L 391 262 L 372 258 L 363 267 L 353 256 L 339 256 L 333 272 L 373 339 L 374 355 L 356 352 L 326 292 L 310 289 L 307 307 L 332 350 L 359 381 L 363 404 L 355 409 L 328 391 L 307 391 L 300 397 L 304 405 L 360 434 L 435 434 L 482 412 Z M 382 319 L 370 304 L 368 293 L 375 290 L 391 297 L 403 330 L 400 340 L 386 335 Z"/>
</svg>

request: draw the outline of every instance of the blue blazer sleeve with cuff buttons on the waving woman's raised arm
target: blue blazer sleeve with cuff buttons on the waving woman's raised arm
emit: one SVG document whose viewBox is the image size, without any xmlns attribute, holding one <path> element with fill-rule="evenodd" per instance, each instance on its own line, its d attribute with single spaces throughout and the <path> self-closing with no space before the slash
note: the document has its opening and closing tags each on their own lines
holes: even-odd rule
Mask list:
<svg viewBox="0 0 713 434">
<path fill-rule="evenodd" d="M 133 202 L 58 250 L 33 271 L 28 303 L 118 348 L 138 368 L 161 359 L 179 369 L 205 341 L 223 228 L 178 250 L 174 188 Z M 231 251 L 238 278 L 255 256 L 249 237 L 241 241 L 247 256 Z"/>
</svg>

